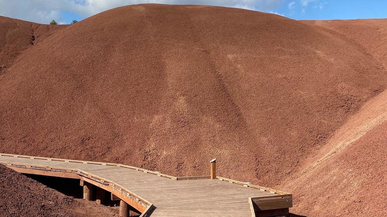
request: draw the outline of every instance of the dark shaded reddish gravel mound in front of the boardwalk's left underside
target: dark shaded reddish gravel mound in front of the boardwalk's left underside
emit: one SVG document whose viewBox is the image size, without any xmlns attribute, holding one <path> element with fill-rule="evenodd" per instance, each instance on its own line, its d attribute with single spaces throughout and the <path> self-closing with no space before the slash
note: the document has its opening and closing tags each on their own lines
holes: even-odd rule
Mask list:
<svg viewBox="0 0 387 217">
<path fill-rule="evenodd" d="M 117 208 L 67 197 L 4 166 L 0 174 L 1 217 L 118 216 Z"/>
</svg>

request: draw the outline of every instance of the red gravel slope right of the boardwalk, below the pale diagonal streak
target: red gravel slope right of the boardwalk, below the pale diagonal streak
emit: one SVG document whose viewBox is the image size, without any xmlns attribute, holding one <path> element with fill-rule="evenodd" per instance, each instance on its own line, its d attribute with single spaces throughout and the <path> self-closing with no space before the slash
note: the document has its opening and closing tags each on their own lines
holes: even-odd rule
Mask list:
<svg viewBox="0 0 387 217">
<path fill-rule="evenodd" d="M 387 124 L 376 127 L 329 160 L 290 180 L 283 188 L 296 194 L 292 212 L 307 216 L 387 216 L 386 130 Z"/>
</svg>

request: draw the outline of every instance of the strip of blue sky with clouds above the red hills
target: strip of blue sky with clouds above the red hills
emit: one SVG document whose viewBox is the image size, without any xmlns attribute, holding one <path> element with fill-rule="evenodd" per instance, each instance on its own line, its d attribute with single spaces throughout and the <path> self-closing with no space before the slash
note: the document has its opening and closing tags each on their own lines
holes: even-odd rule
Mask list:
<svg viewBox="0 0 387 217">
<path fill-rule="evenodd" d="M 0 15 L 69 24 L 111 8 L 137 3 L 198 4 L 245 8 L 296 20 L 387 18 L 387 0 L 0 0 Z"/>
</svg>

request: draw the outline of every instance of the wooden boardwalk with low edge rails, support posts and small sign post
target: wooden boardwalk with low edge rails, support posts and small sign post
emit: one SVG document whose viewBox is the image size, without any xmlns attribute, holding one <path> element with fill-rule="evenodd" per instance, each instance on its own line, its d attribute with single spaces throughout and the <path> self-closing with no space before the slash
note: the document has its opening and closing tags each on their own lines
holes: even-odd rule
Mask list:
<svg viewBox="0 0 387 217">
<path fill-rule="evenodd" d="M 20 173 L 80 180 L 84 199 L 103 203 L 105 191 L 120 201 L 120 216 L 130 209 L 141 217 L 239 217 L 288 214 L 292 195 L 250 183 L 216 176 L 175 177 L 132 166 L 0 154 L 0 164 Z M 22 181 L 22 180 L 21 180 Z"/>
</svg>

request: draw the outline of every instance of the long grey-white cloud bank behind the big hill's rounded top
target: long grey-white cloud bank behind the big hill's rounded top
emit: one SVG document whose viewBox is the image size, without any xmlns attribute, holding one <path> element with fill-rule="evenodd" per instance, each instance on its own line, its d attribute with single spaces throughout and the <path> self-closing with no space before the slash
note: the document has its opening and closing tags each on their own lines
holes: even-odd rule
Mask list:
<svg viewBox="0 0 387 217">
<path fill-rule="evenodd" d="M 64 22 L 61 12 L 89 17 L 111 8 L 140 3 L 195 4 L 270 11 L 284 0 L 0 0 L 0 15 L 38 23 Z"/>
</svg>

